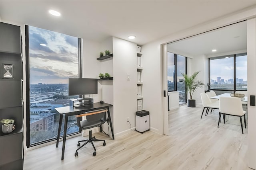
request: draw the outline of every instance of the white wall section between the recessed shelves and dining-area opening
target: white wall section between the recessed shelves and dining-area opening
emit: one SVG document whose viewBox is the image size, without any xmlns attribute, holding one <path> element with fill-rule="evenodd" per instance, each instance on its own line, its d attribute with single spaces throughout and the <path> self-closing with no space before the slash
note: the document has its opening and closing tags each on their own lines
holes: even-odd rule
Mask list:
<svg viewBox="0 0 256 170">
<path fill-rule="evenodd" d="M 143 109 L 149 111 L 150 130 L 163 134 L 161 46 L 158 41 L 141 47 L 143 53 Z"/>
</svg>

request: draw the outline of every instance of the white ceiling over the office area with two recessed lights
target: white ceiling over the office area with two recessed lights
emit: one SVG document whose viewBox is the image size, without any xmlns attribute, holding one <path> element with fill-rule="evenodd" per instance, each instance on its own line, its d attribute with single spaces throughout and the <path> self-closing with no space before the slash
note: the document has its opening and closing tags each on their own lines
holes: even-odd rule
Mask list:
<svg viewBox="0 0 256 170">
<path fill-rule="evenodd" d="M 0 18 L 97 42 L 114 36 L 144 45 L 253 5 L 255 0 L 0 0 Z"/>
</svg>

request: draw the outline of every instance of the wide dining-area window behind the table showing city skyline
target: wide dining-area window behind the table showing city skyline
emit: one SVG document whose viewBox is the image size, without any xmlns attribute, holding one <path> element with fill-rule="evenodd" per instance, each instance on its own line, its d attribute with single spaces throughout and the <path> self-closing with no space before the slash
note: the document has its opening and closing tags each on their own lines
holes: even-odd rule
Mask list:
<svg viewBox="0 0 256 170">
<path fill-rule="evenodd" d="M 247 55 L 236 54 L 209 59 L 210 88 L 247 90 Z"/>
</svg>

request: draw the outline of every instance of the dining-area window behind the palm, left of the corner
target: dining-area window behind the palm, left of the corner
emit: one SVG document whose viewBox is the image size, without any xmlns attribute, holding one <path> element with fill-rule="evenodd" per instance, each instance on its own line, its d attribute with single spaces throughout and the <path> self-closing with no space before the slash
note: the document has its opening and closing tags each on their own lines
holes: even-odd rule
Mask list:
<svg viewBox="0 0 256 170">
<path fill-rule="evenodd" d="M 186 73 L 186 57 L 167 52 L 168 92 L 179 92 L 179 103 L 186 103 L 186 90 L 181 73 Z"/>
</svg>

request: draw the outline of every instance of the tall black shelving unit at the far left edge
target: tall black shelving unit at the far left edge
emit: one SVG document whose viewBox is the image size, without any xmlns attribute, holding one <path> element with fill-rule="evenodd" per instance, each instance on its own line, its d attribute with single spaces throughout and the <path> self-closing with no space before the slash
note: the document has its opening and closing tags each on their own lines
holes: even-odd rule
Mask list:
<svg viewBox="0 0 256 170">
<path fill-rule="evenodd" d="M 15 129 L 2 133 L 0 169 L 23 169 L 23 59 L 20 27 L 0 22 L 0 120 L 14 119 Z M 4 78 L 3 64 L 13 64 L 12 78 Z"/>
</svg>

